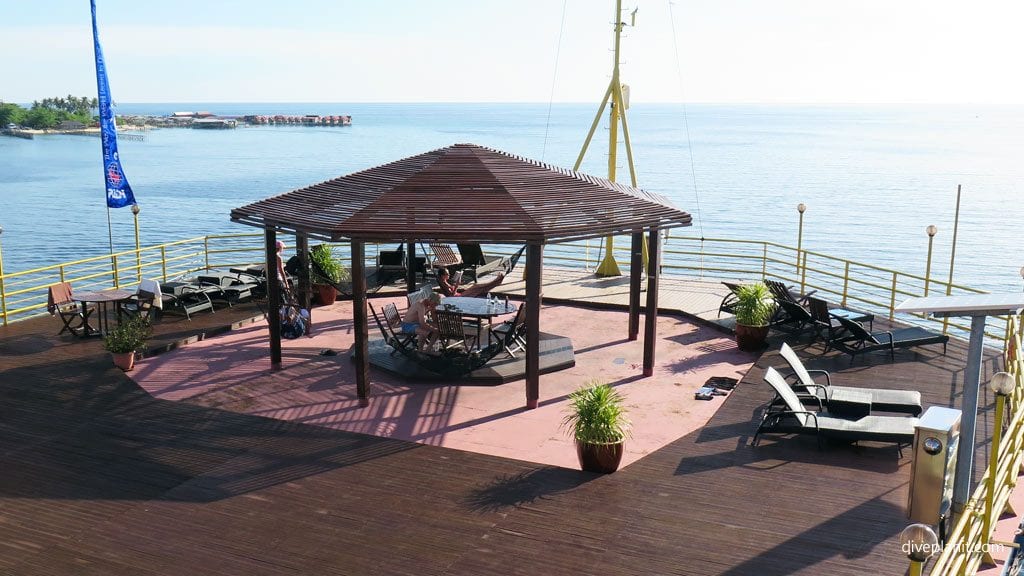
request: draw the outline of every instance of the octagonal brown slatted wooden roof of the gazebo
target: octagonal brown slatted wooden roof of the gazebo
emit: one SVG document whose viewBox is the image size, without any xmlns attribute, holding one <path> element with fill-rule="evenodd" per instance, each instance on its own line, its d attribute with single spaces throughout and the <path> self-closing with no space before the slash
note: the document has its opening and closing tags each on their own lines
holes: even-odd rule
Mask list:
<svg viewBox="0 0 1024 576">
<path fill-rule="evenodd" d="M 690 225 L 660 195 L 471 143 L 236 208 L 231 220 L 335 242 L 549 243 Z"/>
</svg>

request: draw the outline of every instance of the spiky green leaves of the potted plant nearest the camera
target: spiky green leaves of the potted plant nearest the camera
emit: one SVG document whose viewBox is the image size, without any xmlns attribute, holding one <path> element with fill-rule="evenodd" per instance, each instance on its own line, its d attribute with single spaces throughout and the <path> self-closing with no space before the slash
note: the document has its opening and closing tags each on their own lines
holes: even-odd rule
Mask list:
<svg viewBox="0 0 1024 576">
<path fill-rule="evenodd" d="M 591 380 L 569 395 L 569 413 L 562 425 L 586 444 L 617 444 L 626 439 L 630 420 L 624 398 L 610 385 Z"/>
</svg>

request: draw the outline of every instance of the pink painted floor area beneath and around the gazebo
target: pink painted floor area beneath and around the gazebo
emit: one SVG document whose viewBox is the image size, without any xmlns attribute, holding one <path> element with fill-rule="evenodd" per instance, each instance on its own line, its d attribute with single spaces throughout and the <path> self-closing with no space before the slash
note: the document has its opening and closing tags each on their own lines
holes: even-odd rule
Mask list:
<svg viewBox="0 0 1024 576">
<path fill-rule="evenodd" d="M 525 409 L 523 380 L 459 385 L 409 381 L 375 369 L 370 406 L 360 408 L 349 359 L 351 318 L 351 302 L 314 308 L 313 335 L 284 341 L 283 370 L 270 370 L 266 324 L 258 322 L 146 359 L 131 376 L 162 399 L 577 467 L 561 420 L 566 395 L 581 384 L 597 379 L 626 396 L 633 421 L 623 461 L 628 465 L 702 426 L 724 397 L 698 401 L 693 392 L 712 376 L 738 379 L 756 360 L 718 331 L 663 316 L 654 375 L 643 378 L 643 344 L 627 339 L 625 312 L 550 305 L 541 328 L 572 338 L 577 366 L 541 376 L 536 410 Z M 338 355 L 321 356 L 324 348 Z"/>
</svg>

